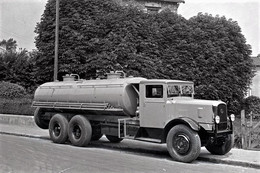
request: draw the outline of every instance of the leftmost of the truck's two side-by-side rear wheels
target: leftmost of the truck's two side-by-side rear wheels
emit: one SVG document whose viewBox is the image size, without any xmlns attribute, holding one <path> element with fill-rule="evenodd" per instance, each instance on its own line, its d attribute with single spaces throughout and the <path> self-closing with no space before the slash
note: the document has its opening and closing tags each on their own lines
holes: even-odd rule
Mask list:
<svg viewBox="0 0 260 173">
<path fill-rule="evenodd" d="M 55 114 L 50 121 L 49 134 L 54 143 L 64 144 L 68 139 L 68 120 L 61 114 Z"/>
</svg>

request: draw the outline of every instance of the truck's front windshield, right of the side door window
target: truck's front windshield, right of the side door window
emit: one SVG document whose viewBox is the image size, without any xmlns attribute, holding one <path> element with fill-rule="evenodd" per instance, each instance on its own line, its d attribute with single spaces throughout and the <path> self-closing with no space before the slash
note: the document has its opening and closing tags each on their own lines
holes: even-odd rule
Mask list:
<svg viewBox="0 0 260 173">
<path fill-rule="evenodd" d="M 178 96 L 192 97 L 193 93 L 194 93 L 193 86 L 188 84 L 183 84 L 183 85 L 170 84 L 168 85 L 168 89 L 167 89 L 168 97 L 178 97 Z"/>
</svg>

